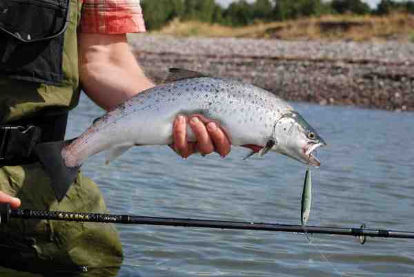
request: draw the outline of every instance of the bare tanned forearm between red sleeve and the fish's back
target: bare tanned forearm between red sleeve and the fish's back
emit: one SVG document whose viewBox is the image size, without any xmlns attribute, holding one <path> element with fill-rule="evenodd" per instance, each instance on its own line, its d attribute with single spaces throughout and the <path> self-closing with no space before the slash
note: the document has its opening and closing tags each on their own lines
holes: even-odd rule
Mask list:
<svg viewBox="0 0 414 277">
<path fill-rule="evenodd" d="M 126 35 L 79 34 L 81 86 L 107 111 L 154 86 L 132 55 Z"/>
</svg>

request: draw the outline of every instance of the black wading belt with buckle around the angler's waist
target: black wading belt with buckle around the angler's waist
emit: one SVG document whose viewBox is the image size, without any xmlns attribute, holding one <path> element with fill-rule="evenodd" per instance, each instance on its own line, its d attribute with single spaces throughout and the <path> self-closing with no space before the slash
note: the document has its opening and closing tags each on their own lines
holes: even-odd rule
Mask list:
<svg viewBox="0 0 414 277">
<path fill-rule="evenodd" d="M 63 140 L 68 113 L 0 124 L 0 166 L 37 162 L 34 146 Z"/>
</svg>

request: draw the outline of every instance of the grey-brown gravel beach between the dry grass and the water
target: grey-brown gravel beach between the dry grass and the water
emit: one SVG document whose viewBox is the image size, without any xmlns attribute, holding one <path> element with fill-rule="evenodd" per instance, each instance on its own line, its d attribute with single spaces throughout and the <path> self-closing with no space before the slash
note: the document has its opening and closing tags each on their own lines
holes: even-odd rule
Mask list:
<svg viewBox="0 0 414 277">
<path fill-rule="evenodd" d="M 283 99 L 414 111 L 414 44 L 130 35 L 146 73 L 168 68 L 236 77 Z"/>
</svg>

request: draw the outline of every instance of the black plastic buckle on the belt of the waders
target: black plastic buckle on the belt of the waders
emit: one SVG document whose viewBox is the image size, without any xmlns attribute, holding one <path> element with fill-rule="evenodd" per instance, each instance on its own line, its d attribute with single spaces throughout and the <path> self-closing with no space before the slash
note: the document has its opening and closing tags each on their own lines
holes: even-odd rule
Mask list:
<svg viewBox="0 0 414 277">
<path fill-rule="evenodd" d="M 41 128 L 37 126 L 0 125 L 0 164 L 28 160 L 40 136 Z"/>
</svg>

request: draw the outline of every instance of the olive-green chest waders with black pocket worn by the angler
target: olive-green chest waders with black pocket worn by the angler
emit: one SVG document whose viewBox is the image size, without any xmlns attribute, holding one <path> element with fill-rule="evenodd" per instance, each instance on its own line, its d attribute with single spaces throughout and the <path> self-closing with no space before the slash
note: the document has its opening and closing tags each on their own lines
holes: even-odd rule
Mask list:
<svg viewBox="0 0 414 277">
<path fill-rule="evenodd" d="M 57 202 L 31 151 L 63 138 L 67 112 L 79 102 L 80 15 L 78 0 L 0 1 L 0 191 L 20 198 L 23 209 L 107 211 L 97 185 L 80 173 Z M 0 276 L 122 262 L 115 227 L 98 223 L 10 220 L 0 225 L 0 251 Z"/>
</svg>

